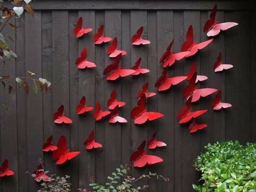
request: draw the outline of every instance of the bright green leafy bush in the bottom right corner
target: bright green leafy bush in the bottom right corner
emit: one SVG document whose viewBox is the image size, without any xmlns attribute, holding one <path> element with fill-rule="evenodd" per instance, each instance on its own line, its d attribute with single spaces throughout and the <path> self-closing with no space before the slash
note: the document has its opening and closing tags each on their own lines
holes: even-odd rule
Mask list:
<svg viewBox="0 0 256 192">
<path fill-rule="evenodd" d="M 238 141 L 208 144 L 195 160 L 201 172 L 200 192 L 256 192 L 256 144 Z"/>
</svg>

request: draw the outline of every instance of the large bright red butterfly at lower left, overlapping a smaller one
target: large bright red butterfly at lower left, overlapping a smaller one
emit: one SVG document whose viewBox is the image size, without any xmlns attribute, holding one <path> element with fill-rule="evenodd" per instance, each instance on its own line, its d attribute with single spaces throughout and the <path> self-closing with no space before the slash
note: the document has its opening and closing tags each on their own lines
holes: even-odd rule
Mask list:
<svg viewBox="0 0 256 192">
<path fill-rule="evenodd" d="M 61 136 L 57 145 L 58 149 L 53 151 L 52 158 L 56 161 L 57 165 L 64 164 L 67 160 L 73 159 L 79 155 L 80 151 L 70 152 L 67 149 L 67 141 L 65 136 Z"/>
</svg>

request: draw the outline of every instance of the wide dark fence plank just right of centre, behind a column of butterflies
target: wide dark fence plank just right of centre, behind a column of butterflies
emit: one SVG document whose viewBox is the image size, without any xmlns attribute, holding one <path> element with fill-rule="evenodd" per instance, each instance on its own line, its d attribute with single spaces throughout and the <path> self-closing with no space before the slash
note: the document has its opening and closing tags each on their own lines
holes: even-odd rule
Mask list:
<svg viewBox="0 0 256 192">
<path fill-rule="evenodd" d="M 131 11 L 131 36 L 136 33 L 136 31 L 141 27 L 144 27 L 143 36 L 146 37 L 147 34 L 147 11 Z M 127 37 L 128 38 L 128 37 Z M 131 39 L 131 37 L 129 37 Z M 148 53 L 147 46 L 131 46 L 131 66 L 141 57 L 142 66 L 146 66 Z M 131 82 L 131 108 L 137 105 L 137 91 L 141 89 L 143 84 L 147 81 L 146 76 L 139 76 L 133 78 Z M 148 123 L 143 125 L 135 125 L 134 119 L 131 119 L 131 141 L 132 141 L 132 152 L 134 152 L 140 143 L 148 139 Z M 146 150 L 146 149 L 145 149 Z M 141 174 L 147 173 L 148 168 L 136 168 L 133 173 L 135 177 L 138 177 Z M 142 184 L 142 183 L 140 183 Z"/>
</svg>

